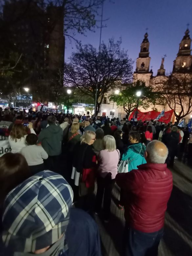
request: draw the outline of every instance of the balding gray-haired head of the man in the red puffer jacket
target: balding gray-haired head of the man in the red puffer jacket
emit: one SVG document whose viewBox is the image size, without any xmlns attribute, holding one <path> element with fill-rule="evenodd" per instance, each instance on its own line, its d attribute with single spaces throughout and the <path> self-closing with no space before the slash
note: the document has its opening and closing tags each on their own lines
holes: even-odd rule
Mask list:
<svg viewBox="0 0 192 256">
<path fill-rule="evenodd" d="M 149 142 L 146 151 L 150 163 L 165 163 L 168 156 L 168 148 L 159 140 Z"/>
</svg>

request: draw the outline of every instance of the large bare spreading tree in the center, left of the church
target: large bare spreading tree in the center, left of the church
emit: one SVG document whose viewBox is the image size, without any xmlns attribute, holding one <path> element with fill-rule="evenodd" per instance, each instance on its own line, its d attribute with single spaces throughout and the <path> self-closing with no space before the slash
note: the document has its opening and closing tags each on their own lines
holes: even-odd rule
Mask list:
<svg viewBox="0 0 192 256">
<path fill-rule="evenodd" d="M 100 52 L 90 44 L 78 45 L 77 52 L 72 53 L 70 63 L 65 66 L 65 85 L 79 88 L 94 101 L 98 78 L 96 115 L 104 94 L 132 79 L 133 62 L 127 52 L 120 49 L 120 45 L 121 40 L 114 42 L 114 39 L 110 39 L 108 45 L 101 44 Z"/>
</svg>

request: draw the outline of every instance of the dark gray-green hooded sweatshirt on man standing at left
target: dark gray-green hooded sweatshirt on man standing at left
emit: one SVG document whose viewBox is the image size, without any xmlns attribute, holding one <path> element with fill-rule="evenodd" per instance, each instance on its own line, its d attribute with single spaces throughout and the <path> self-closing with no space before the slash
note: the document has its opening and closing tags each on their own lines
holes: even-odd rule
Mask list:
<svg viewBox="0 0 192 256">
<path fill-rule="evenodd" d="M 58 156 L 61 154 L 62 139 L 62 128 L 55 124 L 50 124 L 47 128 L 40 132 L 38 143 L 41 143 L 48 156 Z"/>
</svg>

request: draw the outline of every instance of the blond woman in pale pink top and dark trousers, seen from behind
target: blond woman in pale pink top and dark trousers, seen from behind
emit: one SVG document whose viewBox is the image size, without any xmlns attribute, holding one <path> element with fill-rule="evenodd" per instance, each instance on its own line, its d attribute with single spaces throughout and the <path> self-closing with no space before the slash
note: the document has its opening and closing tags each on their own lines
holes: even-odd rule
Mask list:
<svg viewBox="0 0 192 256">
<path fill-rule="evenodd" d="M 119 150 L 116 149 L 115 138 L 106 135 L 103 138 L 104 150 L 98 154 L 98 176 L 97 176 L 97 194 L 96 194 L 96 214 L 101 209 L 103 200 L 104 221 L 108 222 L 110 217 L 111 192 L 115 184 L 117 175 L 117 165 L 120 159 Z"/>
</svg>

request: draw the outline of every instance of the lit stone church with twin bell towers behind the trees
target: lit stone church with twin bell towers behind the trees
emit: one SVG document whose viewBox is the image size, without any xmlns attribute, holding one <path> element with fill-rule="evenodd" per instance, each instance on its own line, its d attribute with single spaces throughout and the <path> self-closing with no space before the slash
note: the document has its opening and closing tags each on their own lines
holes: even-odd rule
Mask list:
<svg viewBox="0 0 192 256">
<path fill-rule="evenodd" d="M 164 69 L 164 57 L 161 60 L 160 69 L 157 71 L 157 75 L 153 75 L 152 69 L 150 69 L 150 60 L 151 57 L 149 56 L 149 40 L 148 40 L 148 33 L 145 33 L 144 39 L 140 46 L 140 53 L 139 57 L 136 61 L 136 70 L 133 74 L 133 82 L 136 82 L 137 80 L 142 80 L 145 82 L 146 86 L 157 86 L 158 84 L 165 83 L 168 81 L 168 79 L 172 79 L 174 77 L 176 78 L 182 78 L 182 77 L 188 77 L 192 79 L 192 55 L 191 55 L 191 38 L 189 36 L 189 30 L 187 29 L 185 31 L 185 35 L 183 36 L 181 43 L 179 45 L 179 51 L 177 53 L 176 59 L 173 61 L 173 71 L 172 74 L 167 76 L 165 75 L 165 69 Z M 187 106 L 184 106 L 187 108 Z M 147 110 L 141 109 L 141 111 L 150 111 L 154 108 L 154 106 L 151 106 L 151 108 Z M 165 105 L 157 105 L 155 108 L 158 111 L 162 111 L 163 109 L 165 111 L 170 110 L 170 108 Z M 176 112 L 180 112 L 180 108 L 178 106 L 178 109 L 176 109 Z M 192 113 L 191 113 L 192 114 Z M 189 119 L 191 117 L 191 114 L 187 115 L 185 118 Z M 172 121 L 175 121 L 175 116 L 173 115 Z"/>
</svg>

